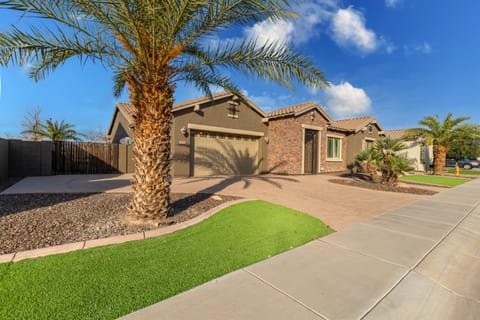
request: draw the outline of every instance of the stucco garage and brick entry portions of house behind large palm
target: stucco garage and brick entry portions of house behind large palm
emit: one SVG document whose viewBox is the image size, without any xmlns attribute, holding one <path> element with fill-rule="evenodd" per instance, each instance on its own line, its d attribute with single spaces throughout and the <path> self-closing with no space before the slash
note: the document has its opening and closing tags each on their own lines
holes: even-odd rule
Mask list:
<svg viewBox="0 0 480 320">
<path fill-rule="evenodd" d="M 133 141 L 133 106 L 118 103 L 108 137 Z M 222 92 L 175 104 L 172 123 L 174 176 L 265 172 L 315 174 L 346 169 L 348 130 L 308 102 L 267 113 L 254 102 Z"/>
</svg>

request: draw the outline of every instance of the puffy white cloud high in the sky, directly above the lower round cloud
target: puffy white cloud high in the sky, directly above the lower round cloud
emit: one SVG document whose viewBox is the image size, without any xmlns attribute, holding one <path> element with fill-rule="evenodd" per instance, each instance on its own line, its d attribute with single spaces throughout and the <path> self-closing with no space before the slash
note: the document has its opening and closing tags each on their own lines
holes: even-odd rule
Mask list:
<svg viewBox="0 0 480 320">
<path fill-rule="evenodd" d="M 354 47 L 368 54 L 378 49 L 375 32 L 365 26 L 365 17 L 353 7 L 339 9 L 332 21 L 332 37 L 342 47 Z"/>
</svg>

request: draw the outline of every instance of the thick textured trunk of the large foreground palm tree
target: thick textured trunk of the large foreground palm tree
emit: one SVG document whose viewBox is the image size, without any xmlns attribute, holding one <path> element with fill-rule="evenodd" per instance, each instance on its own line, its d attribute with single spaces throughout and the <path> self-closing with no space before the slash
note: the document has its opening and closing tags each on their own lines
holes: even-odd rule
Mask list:
<svg viewBox="0 0 480 320">
<path fill-rule="evenodd" d="M 173 88 L 166 82 L 133 87 L 134 124 L 133 200 L 129 217 L 137 222 L 156 222 L 170 212 L 170 130 Z"/>
</svg>

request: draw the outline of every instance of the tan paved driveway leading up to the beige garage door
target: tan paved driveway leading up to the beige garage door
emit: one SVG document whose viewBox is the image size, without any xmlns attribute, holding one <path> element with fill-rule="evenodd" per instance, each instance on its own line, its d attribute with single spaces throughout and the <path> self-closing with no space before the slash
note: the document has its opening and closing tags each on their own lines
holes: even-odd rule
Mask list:
<svg viewBox="0 0 480 320">
<path fill-rule="evenodd" d="M 262 175 L 177 178 L 172 191 L 217 193 L 261 199 L 309 213 L 335 230 L 424 198 L 328 182 L 334 177 Z M 336 178 L 336 177 L 335 177 Z M 58 192 L 131 192 L 131 175 L 67 175 L 25 178 L 3 194 Z"/>
</svg>

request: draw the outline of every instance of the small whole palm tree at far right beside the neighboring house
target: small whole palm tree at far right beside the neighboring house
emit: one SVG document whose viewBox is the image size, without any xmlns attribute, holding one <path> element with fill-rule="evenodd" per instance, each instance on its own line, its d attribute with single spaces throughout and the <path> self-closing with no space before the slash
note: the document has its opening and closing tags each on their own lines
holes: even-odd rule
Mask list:
<svg viewBox="0 0 480 320">
<path fill-rule="evenodd" d="M 448 150 L 458 137 L 463 135 L 461 123 L 470 117 L 454 118 L 449 112 L 445 119 L 426 116 L 418 123 L 422 127 L 407 131 L 408 137 L 421 137 L 428 145 L 433 145 L 433 174 L 442 175 L 445 170 L 445 161 Z"/>
</svg>

